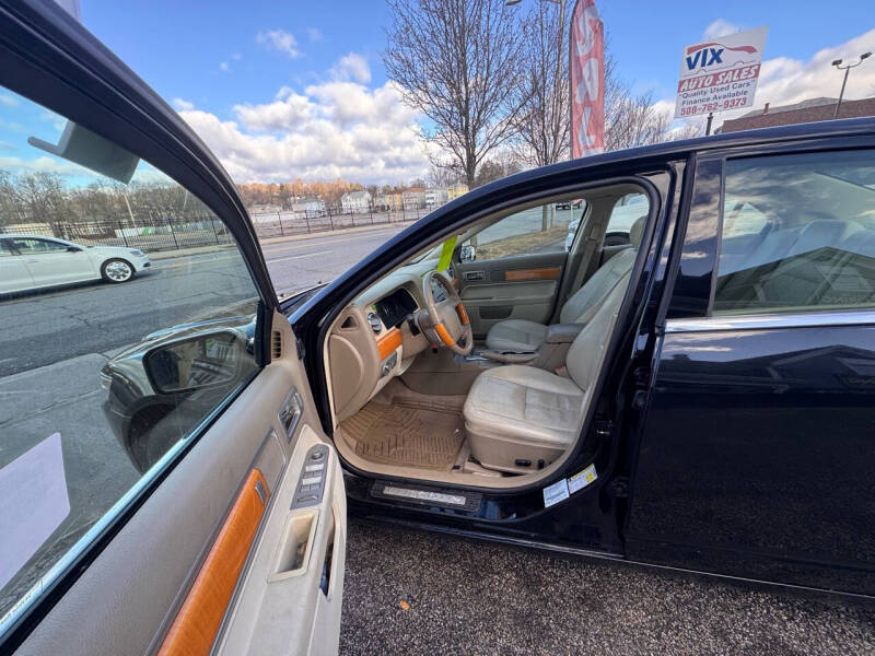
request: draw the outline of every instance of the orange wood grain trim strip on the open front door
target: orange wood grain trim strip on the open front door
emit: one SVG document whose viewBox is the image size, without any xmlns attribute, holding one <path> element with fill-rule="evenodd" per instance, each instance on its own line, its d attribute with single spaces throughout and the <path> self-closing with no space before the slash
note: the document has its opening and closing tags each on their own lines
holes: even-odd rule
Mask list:
<svg viewBox="0 0 875 656">
<path fill-rule="evenodd" d="M 158 652 L 161 656 L 207 656 L 210 653 L 258 531 L 269 495 L 261 471 L 249 471 L 161 644 Z"/>
</svg>

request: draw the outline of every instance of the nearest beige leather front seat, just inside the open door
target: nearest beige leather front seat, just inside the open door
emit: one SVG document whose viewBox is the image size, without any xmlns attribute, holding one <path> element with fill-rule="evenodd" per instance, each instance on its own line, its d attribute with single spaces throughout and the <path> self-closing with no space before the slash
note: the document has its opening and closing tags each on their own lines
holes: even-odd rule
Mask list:
<svg viewBox="0 0 875 656">
<path fill-rule="evenodd" d="M 565 359 L 565 378 L 534 366 L 487 370 L 465 400 L 471 455 L 483 467 L 524 472 L 549 465 L 576 438 L 605 347 L 622 303 L 627 273 L 595 309 Z"/>
</svg>

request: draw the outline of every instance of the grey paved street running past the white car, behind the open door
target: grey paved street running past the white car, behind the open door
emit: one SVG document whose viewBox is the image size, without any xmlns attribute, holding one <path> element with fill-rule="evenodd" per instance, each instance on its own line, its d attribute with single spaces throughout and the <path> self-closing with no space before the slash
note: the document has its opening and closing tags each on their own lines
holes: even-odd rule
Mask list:
<svg viewBox="0 0 875 656">
<path fill-rule="evenodd" d="M 398 231 L 271 244 L 265 258 L 277 290 L 300 290 L 328 282 Z M 110 352 L 232 303 L 246 289 L 241 261 L 232 250 L 158 260 L 152 271 L 126 284 L 84 284 L 0 301 L 0 377 Z"/>
</svg>

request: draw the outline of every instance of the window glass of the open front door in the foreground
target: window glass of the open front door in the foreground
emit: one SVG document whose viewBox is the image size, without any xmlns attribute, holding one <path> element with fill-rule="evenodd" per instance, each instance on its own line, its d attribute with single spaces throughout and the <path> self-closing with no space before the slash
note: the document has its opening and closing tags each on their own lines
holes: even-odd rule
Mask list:
<svg viewBox="0 0 875 656">
<path fill-rule="evenodd" d="M 0 253 L 21 253 L 0 258 L 2 631 L 252 379 L 259 295 L 185 188 L 47 154 L 28 138 L 57 143 L 66 120 L 0 98 Z"/>
</svg>

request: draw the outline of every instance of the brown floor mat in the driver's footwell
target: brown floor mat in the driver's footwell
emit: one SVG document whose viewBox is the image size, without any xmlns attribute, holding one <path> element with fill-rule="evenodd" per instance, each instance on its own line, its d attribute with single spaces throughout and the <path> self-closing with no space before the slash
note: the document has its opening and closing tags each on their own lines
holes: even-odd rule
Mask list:
<svg viewBox="0 0 875 656">
<path fill-rule="evenodd" d="M 387 465 L 451 469 L 465 441 L 459 412 L 370 402 L 340 423 L 355 454 Z"/>
</svg>

